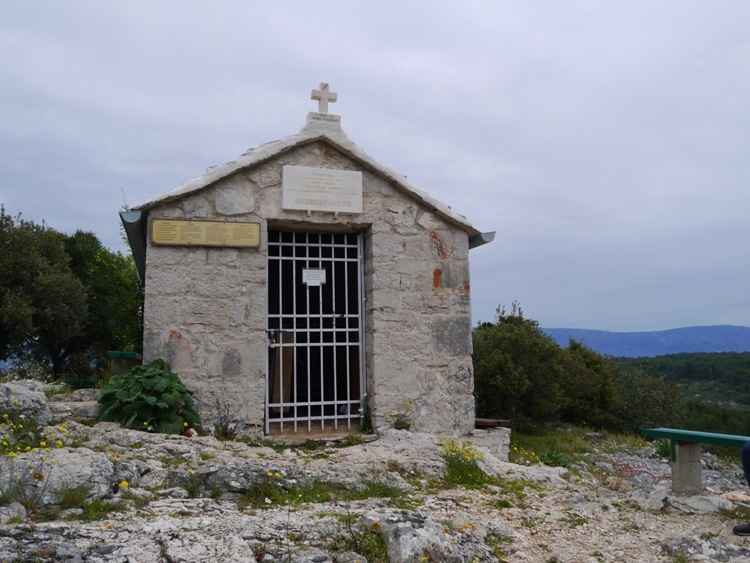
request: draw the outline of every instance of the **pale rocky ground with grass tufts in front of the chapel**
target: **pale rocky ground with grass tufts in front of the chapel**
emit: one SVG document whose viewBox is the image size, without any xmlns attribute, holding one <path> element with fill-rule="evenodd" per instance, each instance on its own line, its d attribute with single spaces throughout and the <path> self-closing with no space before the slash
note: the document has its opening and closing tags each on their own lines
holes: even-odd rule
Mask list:
<svg viewBox="0 0 750 563">
<path fill-rule="evenodd" d="M 671 494 L 668 463 L 653 449 L 596 436 L 594 453 L 567 469 L 483 452 L 480 466 L 498 481 L 472 489 L 445 487 L 439 439 L 405 430 L 316 449 L 112 423 L 56 421 L 45 431 L 56 447 L 0 459 L 0 492 L 23 482 L 27 498 L 54 506 L 61 491 L 85 484 L 89 502 L 122 501 L 122 510 L 87 522 L 73 508 L 39 522 L 6 503 L 0 561 L 364 561 L 373 534 L 386 540 L 389 561 L 750 561 L 750 539 L 731 533 L 747 487 L 737 467 L 710 456 L 703 494 L 684 497 Z M 365 482 L 403 493 L 359 498 Z M 269 483 L 288 491 L 336 484 L 352 494 L 247 502 Z"/>
</svg>

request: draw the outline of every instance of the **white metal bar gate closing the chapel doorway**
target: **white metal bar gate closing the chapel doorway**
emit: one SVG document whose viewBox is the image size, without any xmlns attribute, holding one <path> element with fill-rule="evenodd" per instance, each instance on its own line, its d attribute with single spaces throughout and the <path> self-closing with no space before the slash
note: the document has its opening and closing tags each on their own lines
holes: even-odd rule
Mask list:
<svg viewBox="0 0 750 563">
<path fill-rule="evenodd" d="M 362 234 L 268 233 L 267 434 L 357 428 Z"/>
</svg>

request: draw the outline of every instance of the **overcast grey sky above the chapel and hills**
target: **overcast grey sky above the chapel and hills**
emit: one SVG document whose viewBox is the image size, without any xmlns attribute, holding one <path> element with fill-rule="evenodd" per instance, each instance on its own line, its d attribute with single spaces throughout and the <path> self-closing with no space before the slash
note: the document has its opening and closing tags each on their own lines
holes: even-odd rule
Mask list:
<svg viewBox="0 0 750 563">
<path fill-rule="evenodd" d="M 750 326 L 750 2 L 0 0 L 0 203 L 118 211 L 330 112 L 495 241 L 475 321 Z"/>
</svg>

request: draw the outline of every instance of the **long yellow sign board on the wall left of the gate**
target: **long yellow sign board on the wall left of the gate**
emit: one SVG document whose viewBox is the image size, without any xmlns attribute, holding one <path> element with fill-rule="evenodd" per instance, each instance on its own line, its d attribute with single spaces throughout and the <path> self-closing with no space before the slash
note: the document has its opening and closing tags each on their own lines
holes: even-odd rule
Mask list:
<svg viewBox="0 0 750 563">
<path fill-rule="evenodd" d="M 154 219 L 151 242 L 171 246 L 260 246 L 260 223 Z"/>
</svg>

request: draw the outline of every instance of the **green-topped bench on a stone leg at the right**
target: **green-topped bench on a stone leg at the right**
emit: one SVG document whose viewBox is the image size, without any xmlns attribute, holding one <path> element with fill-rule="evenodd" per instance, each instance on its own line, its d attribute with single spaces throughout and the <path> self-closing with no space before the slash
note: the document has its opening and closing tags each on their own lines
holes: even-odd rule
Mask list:
<svg viewBox="0 0 750 563">
<path fill-rule="evenodd" d="M 641 435 L 670 440 L 672 455 L 672 490 L 676 493 L 699 493 L 701 481 L 701 444 L 741 448 L 750 436 L 714 434 L 676 428 L 644 428 Z"/>
</svg>

